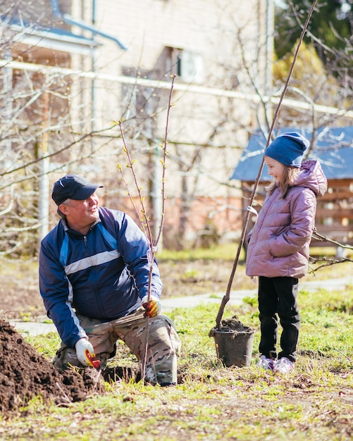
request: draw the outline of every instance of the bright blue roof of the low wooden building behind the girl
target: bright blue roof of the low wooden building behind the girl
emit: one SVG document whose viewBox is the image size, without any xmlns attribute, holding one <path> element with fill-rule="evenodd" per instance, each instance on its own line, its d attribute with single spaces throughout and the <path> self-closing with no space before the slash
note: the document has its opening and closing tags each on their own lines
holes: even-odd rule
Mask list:
<svg viewBox="0 0 353 441">
<path fill-rule="evenodd" d="M 311 141 L 311 130 L 283 128 L 276 133 L 299 132 Z M 235 167 L 230 179 L 254 181 L 257 178 L 261 161 L 264 156 L 267 139 L 256 131 L 249 138 L 239 163 Z M 322 128 L 315 132 L 315 141 L 309 149 L 306 159 L 317 159 L 321 163 L 323 173 L 327 179 L 353 179 L 353 126 L 341 128 Z M 271 180 L 267 174 L 267 167 L 261 174 L 261 181 Z"/>
</svg>

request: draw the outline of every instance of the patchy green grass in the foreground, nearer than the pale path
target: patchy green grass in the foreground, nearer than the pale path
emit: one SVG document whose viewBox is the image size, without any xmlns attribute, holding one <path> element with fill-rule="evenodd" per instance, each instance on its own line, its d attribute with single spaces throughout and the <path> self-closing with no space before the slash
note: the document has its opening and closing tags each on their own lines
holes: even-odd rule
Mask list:
<svg viewBox="0 0 353 441">
<path fill-rule="evenodd" d="M 1 440 L 352 440 L 353 290 L 299 292 L 302 328 L 295 371 L 273 375 L 256 366 L 256 299 L 226 306 L 255 328 L 252 365 L 224 368 L 209 330 L 217 304 L 173 310 L 182 354 L 177 387 L 106 384 L 104 395 L 58 407 L 37 397 L 0 419 Z M 57 335 L 28 337 L 48 359 Z M 135 363 L 121 344 L 117 364 Z"/>
</svg>

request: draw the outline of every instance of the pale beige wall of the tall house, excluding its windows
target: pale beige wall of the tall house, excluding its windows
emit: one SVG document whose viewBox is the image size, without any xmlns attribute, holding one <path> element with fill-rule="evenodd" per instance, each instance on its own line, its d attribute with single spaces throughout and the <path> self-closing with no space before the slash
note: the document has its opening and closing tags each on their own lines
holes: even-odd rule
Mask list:
<svg viewBox="0 0 353 441">
<path fill-rule="evenodd" d="M 78 14 L 76 18 L 89 20 L 88 6 L 82 10 L 80 4 L 74 3 L 72 13 Z M 195 57 L 194 62 L 201 68 L 194 77 L 178 75 L 174 80 L 176 87 L 168 120 L 165 197 L 167 206 L 173 204 L 173 212 L 179 211 L 179 216 L 173 214 L 169 230 L 173 231 L 171 234 L 179 234 L 180 213 L 184 211 L 187 212 L 184 234 L 190 240 L 196 239 L 199 230 L 210 222 L 217 225 L 222 234 L 239 229 L 241 223 L 235 226 L 234 222 L 226 222 L 230 217 L 242 218 L 241 192 L 237 188 L 240 185 L 229 182 L 229 177 L 261 113 L 247 101 L 247 94 L 254 94 L 255 87 L 264 91 L 266 1 L 99 0 L 94 25 L 118 38 L 127 49 L 122 50 L 116 42 L 97 35 L 96 41 L 101 46 L 94 60 L 73 57 L 74 68 L 89 69 L 91 65 L 98 76 L 109 75 L 106 80 L 95 80 L 94 111 L 88 104 L 85 121 L 92 123 L 94 115 L 94 130 L 101 130 L 113 120 L 125 119 L 125 142 L 137 161 L 137 180 L 144 192 L 150 187 L 147 180 L 154 180 L 157 194 L 161 191 L 159 145 L 165 136 L 170 91 L 158 86 L 147 90 L 150 97 L 157 97 L 157 104 L 153 99 L 151 104 L 156 106 L 156 112 L 150 118 L 153 124 L 141 130 L 134 120 L 134 97 L 143 87 L 127 86 L 119 78 L 130 72 L 132 77 L 171 82 L 171 73 L 177 73 L 177 67 L 171 67 L 173 60 L 168 63 L 166 48 L 173 48 L 181 57 L 185 53 Z M 190 90 L 178 90 L 178 85 L 189 86 Z M 82 87 L 81 81 L 80 86 L 73 87 L 77 99 L 82 101 L 85 95 L 89 103 L 92 82 L 85 80 Z M 221 92 L 213 93 L 214 90 L 241 92 L 243 98 L 223 97 Z M 80 105 L 80 109 L 84 107 Z M 147 112 L 148 109 L 147 106 Z M 125 204 L 124 200 L 126 188 L 116 168 L 116 163 L 124 166 L 127 159 L 118 128 L 112 133 L 116 141 L 96 156 L 93 166 L 85 161 L 82 170 L 88 170 L 94 178 L 98 175 L 104 179 L 105 199 L 110 206 L 116 204 L 116 208 L 121 208 L 123 204 L 129 210 L 129 203 Z M 158 156 L 156 161 L 154 155 Z M 132 182 L 132 178 L 128 180 Z M 112 187 L 113 190 L 109 190 Z M 132 185 L 130 191 L 134 193 Z M 228 199 L 234 198 L 239 198 L 239 204 L 227 204 Z M 205 200 L 208 202 L 204 203 Z M 217 213 L 215 205 L 228 208 Z M 205 208 L 209 206 L 212 207 Z M 133 215 L 134 210 L 131 211 Z M 211 211 L 216 214 L 211 215 Z M 200 216 L 202 226 L 199 226 Z"/>
</svg>

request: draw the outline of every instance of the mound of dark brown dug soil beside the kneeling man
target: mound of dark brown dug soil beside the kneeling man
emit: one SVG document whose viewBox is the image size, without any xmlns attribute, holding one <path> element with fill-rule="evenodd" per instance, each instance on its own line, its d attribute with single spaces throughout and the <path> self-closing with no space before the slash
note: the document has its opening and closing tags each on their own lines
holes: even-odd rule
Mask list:
<svg viewBox="0 0 353 441">
<path fill-rule="evenodd" d="M 13 326 L 0 320 L 1 412 L 25 406 L 39 395 L 45 403 L 67 405 L 83 401 L 93 392 L 104 392 L 98 371 L 87 368 L 59 373 Z"/>
</svg>

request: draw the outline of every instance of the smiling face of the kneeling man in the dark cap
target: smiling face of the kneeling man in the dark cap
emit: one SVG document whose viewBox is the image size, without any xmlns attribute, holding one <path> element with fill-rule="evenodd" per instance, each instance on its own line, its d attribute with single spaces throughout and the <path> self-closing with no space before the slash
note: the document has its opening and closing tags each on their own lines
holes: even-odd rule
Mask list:
<svg viewBox="0 0 353 441">
<path fill-rule="evenodd" d="M 98 206 L 99 197 L 93 193 L 83 201 L 68 199 L 65 204 L 59 206 L 59 209 L 65 214 L 70 228 L 85 233 L 87 232 L 85 230 L 88 230 L 90 225 L 99 218 Z"/>
</svg>

